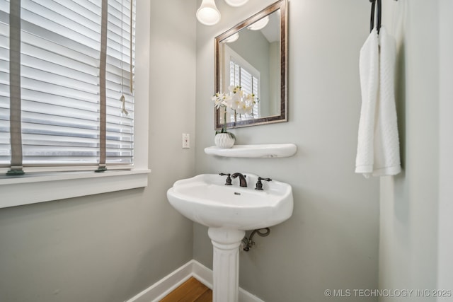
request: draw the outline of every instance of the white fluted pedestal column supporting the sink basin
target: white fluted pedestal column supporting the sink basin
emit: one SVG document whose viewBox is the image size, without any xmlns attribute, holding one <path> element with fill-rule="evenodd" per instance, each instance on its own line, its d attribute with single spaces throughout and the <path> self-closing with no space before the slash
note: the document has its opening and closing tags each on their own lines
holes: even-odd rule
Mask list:
<svg viewBox="0 0 453 302">
<path fill-rule="evenodd" d="M 239 245 L 245 231 L 209 228 L 214 249 L 212 302 L 238 302 Z"/>
</svg>

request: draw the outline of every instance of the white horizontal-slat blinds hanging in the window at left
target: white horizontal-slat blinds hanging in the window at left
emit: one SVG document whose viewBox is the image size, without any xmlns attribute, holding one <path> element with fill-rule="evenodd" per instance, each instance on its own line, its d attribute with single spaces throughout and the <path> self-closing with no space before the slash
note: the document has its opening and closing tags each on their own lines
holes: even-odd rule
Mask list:
<svg viewBox="0 0 453 302">
<path fill-rule="evenodd" d="M 0 166 L 10 167 L 15 156 L 11 151 L 14 93 L 10 67 L 14 64 L 10 45 L 17 37 L 10 36 L 14 33 L 10 5 L 17 3 L 24 170 L 29 166 L 96 166 L 103 152 L 107 165 L 132 165 L 135 13 L 131 0 L 12 1 L 0 0 Z M 103 2 L 108 2 L 106 45 L 101 43 Z"/>
</svg>

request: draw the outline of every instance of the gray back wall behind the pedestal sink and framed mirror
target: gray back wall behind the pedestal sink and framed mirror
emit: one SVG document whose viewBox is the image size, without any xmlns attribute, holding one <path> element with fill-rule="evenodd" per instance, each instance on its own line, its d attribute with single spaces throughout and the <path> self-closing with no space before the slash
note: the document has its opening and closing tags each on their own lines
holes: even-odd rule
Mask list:
<svg viewBox="0 0 453 302">
<path fill-rule="evenodd" d="M 358 58 L 369 1 L 289 2 L 289 122 L 234 130 L 238 144 L 297 144 L 291 158 L 216 158 L 214 37 L 273 0 L 241 8 L 216 1 L 222 21 L 197 24 L 196 172 L 250 171 L 289 182 L 294 214 L 241 252 L 240 285 L 264 301 L 339 301 L 326 289 L 377 288 L 379 180 L 354 173 L 360 113 Z M 199 6 L 201 1 L 197 1 Z M 212 266 L 207 228 L 195 224 L 194 258 Z M 352 296 L 347 301 L 377 301 Z"/>
</svg>

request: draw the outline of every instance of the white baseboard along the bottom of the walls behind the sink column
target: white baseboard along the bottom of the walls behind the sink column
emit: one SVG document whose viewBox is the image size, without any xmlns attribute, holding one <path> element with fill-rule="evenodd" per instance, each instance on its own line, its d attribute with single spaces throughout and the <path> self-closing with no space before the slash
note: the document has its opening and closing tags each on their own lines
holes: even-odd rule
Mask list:
<svg viewBox="0 0 453 302">
<path fill-rule="evenodd" d="M 171 272 L 163 279 L 125 302 L 159 302 L 190 277 L 194 277 L 212 289 L 212 269 L 208 269 L 196 260 L 190 260 L 182 267 L 179 267 L 174 272 Z M 248 291 L 239 288 L 239 302 L 264 301 L 250 294 Z"/>
</svg>

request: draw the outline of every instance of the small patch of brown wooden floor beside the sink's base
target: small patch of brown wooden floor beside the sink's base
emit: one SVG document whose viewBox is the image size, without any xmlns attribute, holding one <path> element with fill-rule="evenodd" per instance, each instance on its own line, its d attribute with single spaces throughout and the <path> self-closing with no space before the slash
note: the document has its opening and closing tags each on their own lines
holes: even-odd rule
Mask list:
<svg viewBox="0 0 453 302">
<path fill-rule="evenodd" d="M 212 290 L 194 277 L 178 286 L 161 302 L 212 302 Z"/>
</svg>

